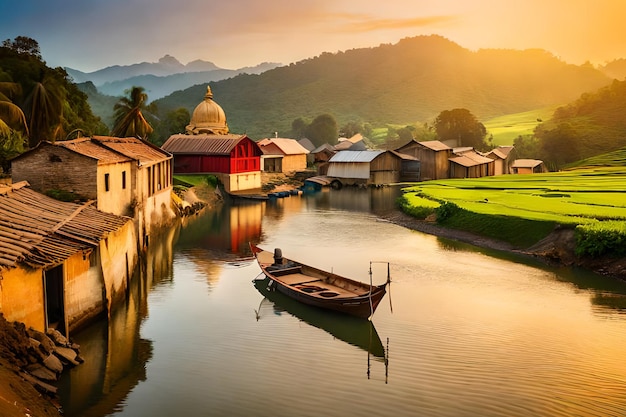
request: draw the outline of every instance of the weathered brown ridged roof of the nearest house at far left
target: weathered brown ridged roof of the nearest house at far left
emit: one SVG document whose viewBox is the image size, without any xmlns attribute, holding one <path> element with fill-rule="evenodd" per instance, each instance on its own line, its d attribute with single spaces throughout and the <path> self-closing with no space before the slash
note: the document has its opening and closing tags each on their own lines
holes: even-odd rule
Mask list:
<svg viewBox="0 0 626 417">
<path fill-rule="evenodd" d="M 0 270 L 23 262 L 54 266 L 98 246 L 131 219 L 103 213 L 90 203 L 57 201 L 23 181 L 0 185 Z"/>
</svg>

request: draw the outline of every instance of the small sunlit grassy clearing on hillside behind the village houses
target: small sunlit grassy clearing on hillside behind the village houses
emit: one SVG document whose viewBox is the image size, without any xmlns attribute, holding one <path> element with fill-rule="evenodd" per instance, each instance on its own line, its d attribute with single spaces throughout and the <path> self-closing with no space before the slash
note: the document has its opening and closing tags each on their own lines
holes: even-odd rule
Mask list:
<svg viewBox="0 0 626 417">
<path fill-rule="evenodd" d="M 559 106 L 507 114 L 483 122 L 487 134 L 493 135 L 493 144 L 496 146 L 513 145 L 513 141 L 520 135 L 530 135 L 539 120 L 548 120 Z"/>
</svg>

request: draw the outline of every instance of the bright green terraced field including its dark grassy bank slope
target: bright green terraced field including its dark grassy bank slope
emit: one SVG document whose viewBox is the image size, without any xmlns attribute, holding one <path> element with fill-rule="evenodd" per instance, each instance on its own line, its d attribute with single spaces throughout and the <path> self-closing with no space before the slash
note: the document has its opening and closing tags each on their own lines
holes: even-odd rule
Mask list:
<svg viewBox="0 0 626 417">
<path fill-rule="evenodd" d="M 425 181 L 404 192 L 409 213 L 424 215 L 453 203 L 461 210 L 449 226 L 519 246 L 535 243 L 557 224 L 594 234 L 626 229 L 624 166 Z M 433 209 L 433 202 L 439 207 Z"/>
</svg>

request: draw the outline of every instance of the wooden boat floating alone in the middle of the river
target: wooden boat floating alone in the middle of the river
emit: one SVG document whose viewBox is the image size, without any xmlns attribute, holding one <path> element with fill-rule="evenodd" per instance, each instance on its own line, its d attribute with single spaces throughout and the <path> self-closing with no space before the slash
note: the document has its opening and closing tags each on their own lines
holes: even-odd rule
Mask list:
<svg viewBox="0 0 626 417">
<path fill-rule="evenodd" d="M 365 284 L 283 258 L 278 248 L 271 253 L 250 243 L 250 249 L 270 279 L 270 289 L 304 304 L 357 317 L 368 318 L 374 314 L 390 282 L 387 277 L 382 285 Z"/>
</svg>

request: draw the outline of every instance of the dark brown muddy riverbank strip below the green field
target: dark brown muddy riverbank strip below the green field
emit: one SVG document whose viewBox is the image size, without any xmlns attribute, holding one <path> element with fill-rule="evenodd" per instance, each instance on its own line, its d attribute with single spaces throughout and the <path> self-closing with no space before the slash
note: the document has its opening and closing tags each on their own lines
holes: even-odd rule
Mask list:
<svg viewBox="0 0 626 417">
<path fill-rule="evenodd" d="M 480 248 L 514 252 L 539 259 L 550 265 L 577 266 L 626 281 L 626 258 L 578 257 L 575 253 L 576 238 L 572 229 L 557 228 L 546 238 L 529 248 L 516 248 L 507 242 L 479 236 L 464 230 L 450 229 L 433 221 L 419 220 L 399 210 L 383 216 L 383 219 L 411 230 L 469 243 Z"/>
</svg>

